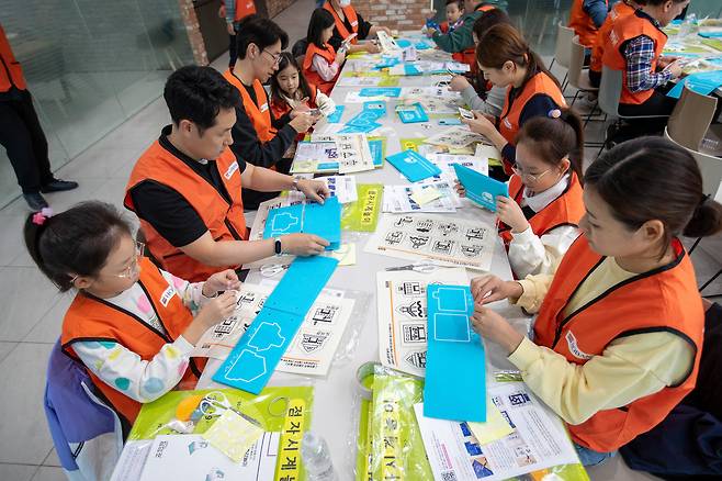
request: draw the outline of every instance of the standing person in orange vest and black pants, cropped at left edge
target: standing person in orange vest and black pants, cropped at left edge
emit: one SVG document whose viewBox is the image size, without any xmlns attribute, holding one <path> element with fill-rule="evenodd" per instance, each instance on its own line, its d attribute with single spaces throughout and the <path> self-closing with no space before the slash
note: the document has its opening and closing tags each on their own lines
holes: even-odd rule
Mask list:
<svg viewBox="0 0 722 481">
<path fill-rule="evenodd" d="M 47 208 L 41 192 L 59 192 L 78 182 L 56 179 L 50 171 L 47 139 L 37 119 L 20 63 L 0 25 L 0 145 L 5 148 L 25 202 L 33 211 Z"/>
</svg>

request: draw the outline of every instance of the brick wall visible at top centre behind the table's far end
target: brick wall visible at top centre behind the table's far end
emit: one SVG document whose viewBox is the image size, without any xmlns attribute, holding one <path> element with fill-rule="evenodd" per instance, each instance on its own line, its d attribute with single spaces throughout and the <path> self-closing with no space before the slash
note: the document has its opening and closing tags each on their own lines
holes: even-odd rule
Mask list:
<svg viewBox="0 0 722 481">
<path fill-rule="evenodd" d="M 353 8 L 364 20 L 401 32 L 424 25 L 429 0 L 353 0 Z"/>
</svg>

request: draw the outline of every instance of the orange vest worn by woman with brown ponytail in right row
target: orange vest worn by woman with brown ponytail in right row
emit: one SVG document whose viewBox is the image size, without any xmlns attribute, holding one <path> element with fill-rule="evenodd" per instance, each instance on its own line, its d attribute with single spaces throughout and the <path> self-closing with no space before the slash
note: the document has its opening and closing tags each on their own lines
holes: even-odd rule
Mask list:
<svg viewBox="0 0 722 481">
<path fill-rule="evenodd" d="M 566 108 L 564 94 L 559 86 L 543 71 L 535 74 L 527 80 L 521 92 L 516 99 L 514 99 L 514 101 L 511 100 L 512 89 L 514 86 L 507 87 L 506 100 L 504 101 L 504 108 L 501 109 L 501 115 L 499 116 L 499 133 L 509 144 L 515 145 L 517 133 L 519 133 L 519 128 L 521 128 L 521 125 L 519 125 L 521 112 L 527 105 L 527 102 L 533 97 L 546 94 L 552 98 L 559 108 Z M 511 165 L 506 160 L 504 161 L 504 170 L 508 175 L 511 175 Z"/>
</svg>

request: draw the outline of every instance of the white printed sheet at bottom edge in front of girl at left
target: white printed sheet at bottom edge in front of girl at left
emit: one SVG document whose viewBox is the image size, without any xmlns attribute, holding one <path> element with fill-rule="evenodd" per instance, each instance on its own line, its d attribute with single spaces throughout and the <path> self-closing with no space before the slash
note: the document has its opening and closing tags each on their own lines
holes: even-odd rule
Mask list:
<svg viewBox="0 0 722 481">
<path fill-rule="evenodd" d="M 140 481 L 266 481 L 273 479 L 280 433 L 263 433 L 244 460 L 233 462 L 198 435 L 157 436 Z"/>
</svg>

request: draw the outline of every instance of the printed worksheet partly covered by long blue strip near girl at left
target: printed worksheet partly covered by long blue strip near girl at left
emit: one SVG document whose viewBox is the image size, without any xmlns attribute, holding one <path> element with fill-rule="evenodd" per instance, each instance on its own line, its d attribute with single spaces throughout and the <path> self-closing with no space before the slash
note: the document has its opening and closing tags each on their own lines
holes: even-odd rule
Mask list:
<svg viewBox="0 0 722 481">
<path fill-rule="evenodd" d="M 236 312 L 206 331 L 192 356 L 225 359 L 263 307 L 273 288 L 244 283 Z M 316 299 L 277 370 L 326 376 L 351 317 L 354 301 L 328 295 Z"/>
</svg>

